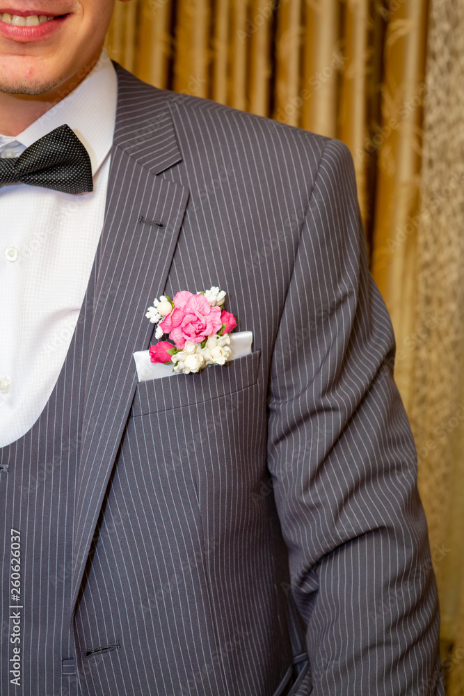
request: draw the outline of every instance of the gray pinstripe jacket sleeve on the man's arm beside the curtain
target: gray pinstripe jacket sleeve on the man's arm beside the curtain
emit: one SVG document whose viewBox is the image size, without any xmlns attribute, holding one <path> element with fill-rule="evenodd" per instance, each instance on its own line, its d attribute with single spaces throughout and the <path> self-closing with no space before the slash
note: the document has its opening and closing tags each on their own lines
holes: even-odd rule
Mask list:
<svg viewBox="0 0 464 696">
<path fill-rule="evenodd" d="M 312 696 L 443 694 L 439 613 L 390 317 L 353 162 L 328 141 L 271 365 L 269 470 Z"/>
</svg>

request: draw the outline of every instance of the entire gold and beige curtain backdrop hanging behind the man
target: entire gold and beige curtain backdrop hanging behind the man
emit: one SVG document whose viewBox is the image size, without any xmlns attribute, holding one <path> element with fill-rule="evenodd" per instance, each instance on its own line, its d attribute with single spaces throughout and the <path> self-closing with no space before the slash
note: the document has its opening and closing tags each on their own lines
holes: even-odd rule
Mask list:
<svg viewBox="0 0 464 696">
<path fill-rule="evenodd" d="M 106 46 L 158 87 L 349 145 L 464 696 L 464 0 L 131 0 Z"/>
</svg>

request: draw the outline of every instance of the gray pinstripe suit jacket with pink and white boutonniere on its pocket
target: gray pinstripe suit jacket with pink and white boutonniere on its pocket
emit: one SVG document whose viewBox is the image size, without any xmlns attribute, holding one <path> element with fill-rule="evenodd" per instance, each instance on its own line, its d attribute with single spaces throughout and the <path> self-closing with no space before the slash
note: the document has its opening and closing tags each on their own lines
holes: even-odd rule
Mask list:
<svg viewBox="0 0 464 696">
<path fill-rule="evenodd" d="M 349 150 L 118 81 L 75 521 L 83 695 L 442 694 Z M 147 306 L 211 285 L 252 352 L 138 383 Z"/>
</svg>

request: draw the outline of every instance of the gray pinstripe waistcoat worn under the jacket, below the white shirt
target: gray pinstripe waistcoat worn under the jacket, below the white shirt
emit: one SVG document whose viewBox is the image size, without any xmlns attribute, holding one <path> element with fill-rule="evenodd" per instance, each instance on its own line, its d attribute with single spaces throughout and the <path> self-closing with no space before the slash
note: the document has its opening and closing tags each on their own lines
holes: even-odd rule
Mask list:
<svg viewBox="0 0 464 696">
<path fill-rule="evenodd" d="M 77 696 L 69 622 L 77 464 L 95 269 L 60 376 L 40 418 L 0 448 L 1 696 Z M 21 537 L 21 687 L 10 683 L 10 529 Z"/>
</svg>

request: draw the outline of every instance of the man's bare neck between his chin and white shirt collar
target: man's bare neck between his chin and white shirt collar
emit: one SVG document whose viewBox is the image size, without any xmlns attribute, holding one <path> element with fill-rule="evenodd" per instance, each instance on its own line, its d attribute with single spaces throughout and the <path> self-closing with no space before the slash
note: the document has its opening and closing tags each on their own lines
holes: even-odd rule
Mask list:
<svg viewBox="0 0 464 696">
<path fill-rule="evenodd" d="M 0 92 L 0 134 L 17 136 L 46 111 L 67 97 L 87 77 L 99 58 L 92 58 L 87 65 L 53 90 L 40 95 L 6 94 Z"/>
</svg>

